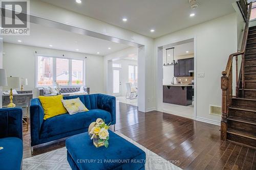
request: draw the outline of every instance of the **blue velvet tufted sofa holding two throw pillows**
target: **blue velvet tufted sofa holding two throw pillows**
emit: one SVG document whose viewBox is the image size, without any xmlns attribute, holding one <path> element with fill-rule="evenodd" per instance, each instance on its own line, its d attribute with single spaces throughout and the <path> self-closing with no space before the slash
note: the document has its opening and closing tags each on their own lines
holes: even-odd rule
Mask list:
<svg viewBox="0 0 256 170">
<path fill-rule="evenodd" d="M 44 109 L 39 99 L 32 99 L 30 105 L 31 147 L 87 132 L 89 125 L 97 118 L 106 124 L 116 124 L 116 98 L 105 94 L 64 96 L 63 99 L 79 98 L 89 109 L 73 115 L 57 115 L 44 120 Z"/>
</svg>

